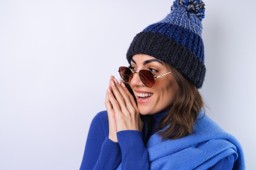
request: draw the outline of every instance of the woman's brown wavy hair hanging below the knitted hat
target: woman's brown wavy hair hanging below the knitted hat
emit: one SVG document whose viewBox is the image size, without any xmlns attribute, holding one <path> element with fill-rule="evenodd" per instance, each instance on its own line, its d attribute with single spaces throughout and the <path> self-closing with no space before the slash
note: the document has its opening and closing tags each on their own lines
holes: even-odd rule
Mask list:
<svg viewBox="0 0 256 170">
<path fill-rule="evenodd" d="M 191 134 L 200 110 L 204 109 L 198 88 L 179 71 L 170 67 L 177 81 L 178 91 L 171 110 L 162 117 L 157 126 L 156 131 L 160 130 L 158 135 L 161 135 L 162 139 L 178 139 Z"/>
</svg>

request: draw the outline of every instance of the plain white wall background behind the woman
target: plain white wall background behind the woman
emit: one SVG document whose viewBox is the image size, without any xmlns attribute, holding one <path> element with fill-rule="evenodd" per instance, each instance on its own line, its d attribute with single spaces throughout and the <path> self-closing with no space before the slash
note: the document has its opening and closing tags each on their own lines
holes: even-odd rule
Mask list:
<svg viewBox="0 0 256 170">
<path fill-rule="evenodd" d="M 205 0 L 211 116 L 256 169 L 256 1 Z M 79 169 L 108 79 L 172 0 L 0 0 L 0 169 Z"/>
</svg>

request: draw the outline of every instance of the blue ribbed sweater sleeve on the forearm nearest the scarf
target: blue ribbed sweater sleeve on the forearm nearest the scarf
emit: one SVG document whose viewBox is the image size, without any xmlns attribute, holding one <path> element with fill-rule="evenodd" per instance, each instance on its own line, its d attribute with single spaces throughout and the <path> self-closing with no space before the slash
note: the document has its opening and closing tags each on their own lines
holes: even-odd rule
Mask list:
<svg viewBox="0 0 256 170">
<path fill-rule="evenodd" d="M 117 140 L 122 152 L 122 170 L 149 170 L 148 151 L 140 131 L 117 132 Z"/>
</svg>

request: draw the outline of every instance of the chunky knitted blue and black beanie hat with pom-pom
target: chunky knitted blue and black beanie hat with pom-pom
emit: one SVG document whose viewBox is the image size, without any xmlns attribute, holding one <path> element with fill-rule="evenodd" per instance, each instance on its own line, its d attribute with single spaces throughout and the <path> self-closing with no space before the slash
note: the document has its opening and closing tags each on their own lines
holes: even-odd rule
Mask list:
<svg viewBox="0 0 256 170">
<path fill-rule="evenodd" d="M 130 63 L 135 54 L 146 54 L 176 68 L 197 88 L 201 88 L 206 68 L 202 35 L 204 2 L 175 0 L 163 20 L 138 33 L 127 52 Z"/>
</svg>

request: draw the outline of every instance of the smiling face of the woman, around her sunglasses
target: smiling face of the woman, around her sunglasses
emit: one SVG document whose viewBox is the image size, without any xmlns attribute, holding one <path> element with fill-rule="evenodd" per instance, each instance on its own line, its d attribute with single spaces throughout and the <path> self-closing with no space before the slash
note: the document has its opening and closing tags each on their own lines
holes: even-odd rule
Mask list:
<svg viewBox="0 0 256 170">
<path fill-rule="evenodd" d="M 134 55 L 132 57 L 131 67 L 134 72 L 139 72 L 142 69 L 150 70 L 155 76 L 171 71 L 171 68 L 164 62 L 144 54 Z M 136 96 L 141 115 L 152 115 L 170 109 L 178 90 L 178 84 L 173 73 L 157 78 L 153 88 L 144 86 L 139 78 L 139 74 L 135 73 L 130 80 L 130 87 Z"/>
</svg>

